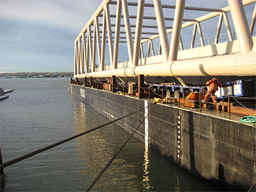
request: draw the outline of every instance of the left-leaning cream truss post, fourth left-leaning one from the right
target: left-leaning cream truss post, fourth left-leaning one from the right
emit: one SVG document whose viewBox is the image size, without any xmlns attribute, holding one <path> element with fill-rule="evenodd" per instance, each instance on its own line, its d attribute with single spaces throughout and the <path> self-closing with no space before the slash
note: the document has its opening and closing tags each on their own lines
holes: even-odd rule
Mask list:
<svg viewBox="0 0 256 192">
<path fill-rule="evenodd" d="M 105 4 L 104 9 L 105 9 L 106 23 L 107 23 L 107 28 L 108 28 L 109 58 L 110 58 L 111 67 L 113 68 L 113 37 L 112 37 L 111 20 L 109 17 L 108 4 Z"/>
</svg>

